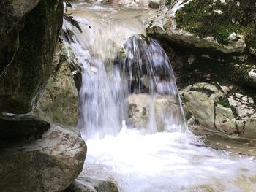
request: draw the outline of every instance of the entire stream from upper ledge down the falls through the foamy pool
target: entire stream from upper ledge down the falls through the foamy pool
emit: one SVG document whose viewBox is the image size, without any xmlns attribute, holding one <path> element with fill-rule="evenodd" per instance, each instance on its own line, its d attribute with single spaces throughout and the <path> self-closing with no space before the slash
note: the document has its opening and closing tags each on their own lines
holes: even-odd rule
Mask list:
<svg viewBox="0 0 256 192">
<path fill-rule="evenodd" d="M 199 147 L 187 130 L 170 61 L 156 40 L 138 35 L 154 11 L 80 3 L 69 12 L 83 30 L 64 21 L 83 67 L 78 126 L 88 153 L 81 176 L 105 177 L 127 192 L 256 191 L 255 158 Z M 151 98 L 148 122 L 132 128 L 128 98 L 143 91 Z M 162 95 L 176 107 L 159 129 L 154 101 Z"/>
</svg>

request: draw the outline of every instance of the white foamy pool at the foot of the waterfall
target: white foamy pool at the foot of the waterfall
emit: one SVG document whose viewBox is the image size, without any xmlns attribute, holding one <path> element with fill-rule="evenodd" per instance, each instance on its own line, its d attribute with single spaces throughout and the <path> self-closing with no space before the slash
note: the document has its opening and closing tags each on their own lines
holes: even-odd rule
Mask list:
<svg viewBox="0 0 256 192">
<path fill-rule="evenodd" d="M 255 158 L 198 147 L 189 131 L 143 134 L 122 128 L 117 137 L 86 144 L 82 175 L 104 175 L 121 191 L 256 191 Z"/>
</svg>

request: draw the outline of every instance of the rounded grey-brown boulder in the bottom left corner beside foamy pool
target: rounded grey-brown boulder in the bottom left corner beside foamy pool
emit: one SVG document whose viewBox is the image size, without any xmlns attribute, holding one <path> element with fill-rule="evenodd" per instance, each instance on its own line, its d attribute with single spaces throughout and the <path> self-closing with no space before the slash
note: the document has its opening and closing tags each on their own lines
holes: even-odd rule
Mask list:
<svg viewBox="0 0 256 192">
<path fill-rule="evenodd" d="M 34 142 L 1 143 L 1 191 L 62 191 L 83 168 L 86 144 L 67 129 L 52 125 Z"/>
</svg>

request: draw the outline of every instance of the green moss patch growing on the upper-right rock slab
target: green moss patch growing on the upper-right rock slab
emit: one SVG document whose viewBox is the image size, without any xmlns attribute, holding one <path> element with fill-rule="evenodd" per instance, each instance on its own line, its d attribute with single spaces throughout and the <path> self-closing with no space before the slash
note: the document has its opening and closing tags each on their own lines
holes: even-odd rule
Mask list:
<svg viewBox="0 0 256 192">
<path fill-rule="evenodd" d="M 219 44 L 227 45 L 233 32 L 241 34 L 251 30 L 254 12 L 250 7 L 254 6 L 253 1 L 227 0 L 226 4 L 219 0 L 215 3 L 212 0 L 191 1 L 176 12 L 177 27 L 201 38 L 214 37 Z M 223 13 L 214 12 L 216 10 Z"/>
</svg>

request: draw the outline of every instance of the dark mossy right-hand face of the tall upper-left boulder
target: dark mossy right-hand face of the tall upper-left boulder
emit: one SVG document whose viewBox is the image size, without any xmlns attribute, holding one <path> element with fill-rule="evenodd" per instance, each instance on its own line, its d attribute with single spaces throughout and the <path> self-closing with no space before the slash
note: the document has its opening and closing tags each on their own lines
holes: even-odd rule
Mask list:
<svg viewBox="0 0 256 192">
<path fill-rule="evenodd" d="M 36 105 L 52 69 L 63 4 L 41 0 L 26 15 L 15 58 L 0 77 L 0 112 L 26 113 Z"/>
</svg>

